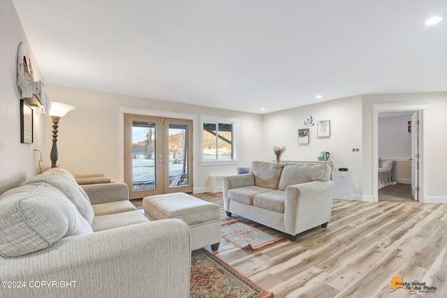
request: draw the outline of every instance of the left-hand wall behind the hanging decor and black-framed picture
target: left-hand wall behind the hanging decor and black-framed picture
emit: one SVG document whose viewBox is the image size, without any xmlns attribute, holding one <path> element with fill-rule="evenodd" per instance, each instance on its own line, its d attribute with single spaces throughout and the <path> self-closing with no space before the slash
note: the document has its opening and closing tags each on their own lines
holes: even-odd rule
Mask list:
<svg viewBox="0 0 447 298">
<path fill-rule="evenodd" d="M 0 193 L 38 172 L 36 149 L 43 144 L 43 116 L 34 117 L 34 145 L 20 143 L 20 94 L 17 89 L 17 49 L 28 43 L 11 0 L 0 1 Z M 41 80 L 29 47 L 35 80 Z"/>
</svg>

